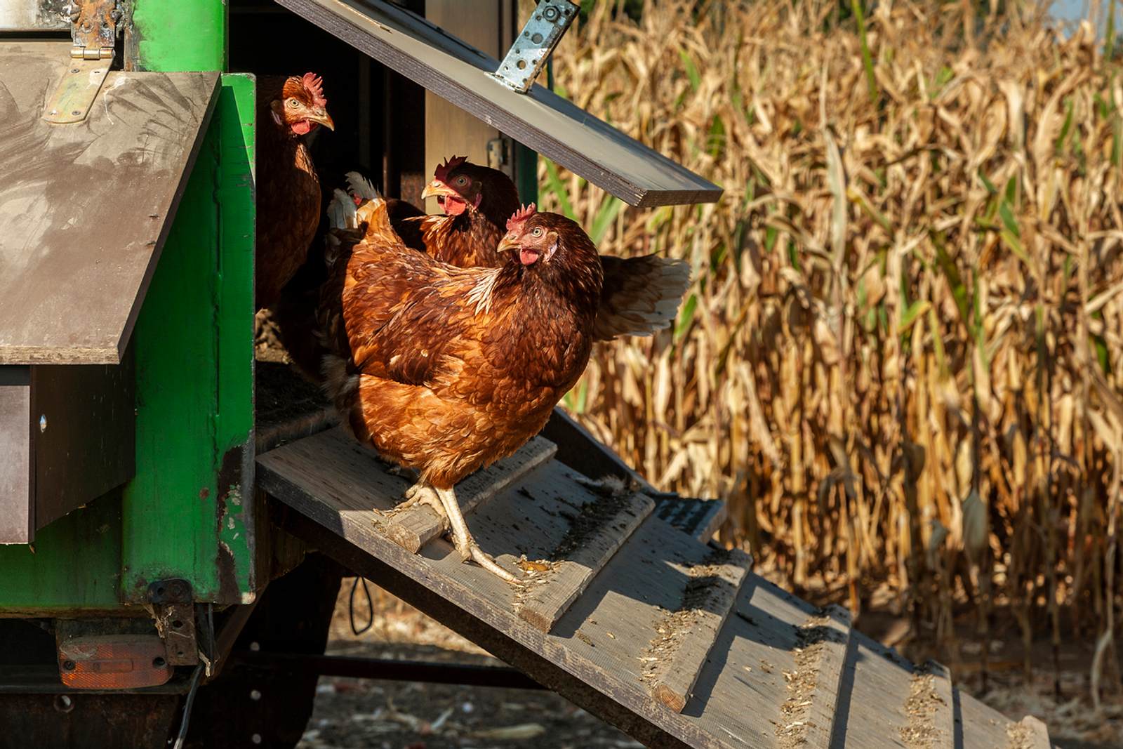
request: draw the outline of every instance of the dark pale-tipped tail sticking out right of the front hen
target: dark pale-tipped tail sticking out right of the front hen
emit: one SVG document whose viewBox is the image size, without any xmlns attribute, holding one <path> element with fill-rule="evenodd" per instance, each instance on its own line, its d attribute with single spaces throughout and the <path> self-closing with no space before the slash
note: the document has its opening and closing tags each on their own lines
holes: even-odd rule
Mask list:
<svg viewBox="0 0 1123 749">
<path fill-rule="evenodd" d="M 685 261 L 645 255 L 604 255 L 604 289 L 593 335 L 599 340 L 650 336 L 669 326 L 691 285 Z"/>
</svg>

